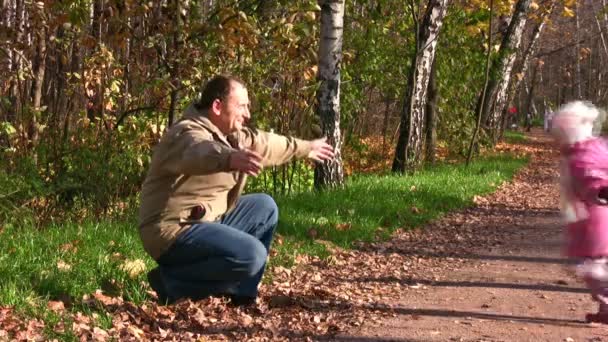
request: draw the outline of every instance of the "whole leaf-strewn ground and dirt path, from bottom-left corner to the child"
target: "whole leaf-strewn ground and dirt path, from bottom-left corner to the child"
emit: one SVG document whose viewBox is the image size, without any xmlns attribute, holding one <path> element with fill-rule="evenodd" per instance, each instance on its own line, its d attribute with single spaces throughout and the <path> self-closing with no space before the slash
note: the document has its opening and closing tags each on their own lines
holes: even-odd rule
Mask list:
<svg viewBox="0 0 608 342">
<path fill-rule="evenodd" d="M 105 307 L 111 327 L 79 314 L 44 327 L 0 308 L 0 341 L 41 339 L 43 328 L 121 341 L 608 341 L 608 326 L 583 321 L 596 304 L 561 253 L 557 152 L 542 131 L 501 148 L 531 162 L 494 194 L 385 242 L 274 267 L 255 306 L 96 293 L 85 302 Z"/>
</svg>

